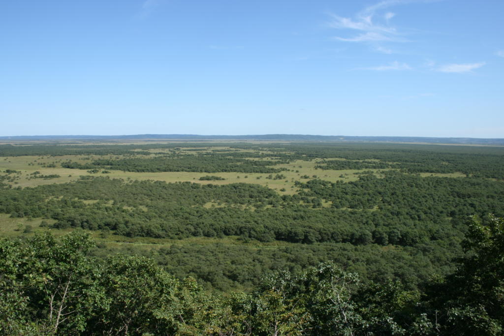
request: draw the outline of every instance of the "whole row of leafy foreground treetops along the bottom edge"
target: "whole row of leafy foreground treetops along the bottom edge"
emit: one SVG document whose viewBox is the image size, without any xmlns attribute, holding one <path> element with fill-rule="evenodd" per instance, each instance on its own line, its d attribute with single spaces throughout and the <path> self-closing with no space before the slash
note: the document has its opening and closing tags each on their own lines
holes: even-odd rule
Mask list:
<svg viewBox="0 0 504 336">
<path fill-rule="evenodd" d="M 0 241 L 2 334 L 499 335 L 504 328 L 504 220 L 473 219 L 467 256 L 425 292 L 359 282 L 332 262 L 264 277 L 258 290 L 214 296 L 152 259 L 99 262 L 72 233 Z"/>
</svg>

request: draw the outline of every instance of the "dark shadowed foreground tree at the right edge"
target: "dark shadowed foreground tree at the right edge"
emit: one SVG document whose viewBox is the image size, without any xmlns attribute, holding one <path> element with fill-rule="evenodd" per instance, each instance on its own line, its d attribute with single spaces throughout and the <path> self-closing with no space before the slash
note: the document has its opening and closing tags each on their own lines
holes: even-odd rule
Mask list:
<svg viewBox="0 0 504 336">
<path fill-rule="evenodd" d="M 436 279 L 428 304 L 443 334 L 504 333 L 504 219 L 488 216 L 468 222 L 467 255 L 457 271 Z"/>
</svg>

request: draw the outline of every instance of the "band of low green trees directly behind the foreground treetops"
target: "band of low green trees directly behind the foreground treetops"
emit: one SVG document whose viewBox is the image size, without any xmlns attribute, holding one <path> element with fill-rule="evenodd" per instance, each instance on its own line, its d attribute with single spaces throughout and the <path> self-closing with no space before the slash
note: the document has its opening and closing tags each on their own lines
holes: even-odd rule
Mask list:
<svg viewBox="0 0 504 336">
<path fill-rule="evenodd" d="M 246 241 L 245 238 L 242 240 Z M 114 253 L 150 256 L 179 279 L 191 275 L 206 289 L 229 292 L 257 288 L 266 273 L 280 270 L 299 273 L 325 260 L 334 260 L 337 266 L 358 272 L 364 283 L 392 278 L 404 281 L 408 288 L 416 288 L 432 273 L 446 273 L 451 269 L 451 259 L 459 255 L 455 247 L 451 249 L 454 251 L 438 242 L 417 248 L 390 249 L 374 244 L 353 246 L 348 243 L 288 244 L 265 248 L 258 248 L 253 243 L 188 243 L 173 244 L 153 252 L 130 245 L 122 249 L 102 248 L 95 253 L 101 257 Z"/>
</svg>

